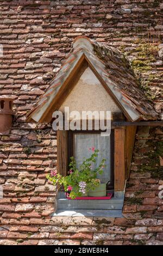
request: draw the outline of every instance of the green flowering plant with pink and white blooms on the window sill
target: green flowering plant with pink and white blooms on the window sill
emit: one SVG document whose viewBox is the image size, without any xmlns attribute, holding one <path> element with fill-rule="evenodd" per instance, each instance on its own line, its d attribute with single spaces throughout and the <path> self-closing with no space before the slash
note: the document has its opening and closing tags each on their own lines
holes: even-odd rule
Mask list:
<svg viewBox="0 0 163 256">
<path fill-rule="evenodd" d="M 77 197 L 86 197 L 87 194 L 95 194 L 96 188 L 99 187 L 99 190 L 96 191 L 96 195 L 99 193 L 101 196 L 101 190 L 104 190 L 106 195 L 106 185 L 101 188 L 100 180 L 97 179 L 98 174 L 103 173 L 103 168 L 105 159 L 101 161 L 98 167 L 93 169 L 93 163 L 96 163 L 98 156 L 98 149 L 92 148 L 92 155 L 88 159 L 84 159 L 83 163 L 77 168 L 76 160 L 74 157 L 71 157 L 70 162 L 70 171 L 67 176 L 62 176 L 57 173 L 57 170 L 52 170 L 51 174 L 47 175 L 54 186 L 57 186 L 57 192 L 60 187 L 63 186 L 66 192 L 66 197 L 75 199 Z"/>
</svg>

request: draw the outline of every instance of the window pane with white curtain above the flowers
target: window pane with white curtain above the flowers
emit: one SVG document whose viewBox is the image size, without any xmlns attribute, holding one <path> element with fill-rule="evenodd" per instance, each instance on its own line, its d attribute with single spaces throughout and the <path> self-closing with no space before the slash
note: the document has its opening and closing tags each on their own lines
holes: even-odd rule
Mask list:
<svg viewBox="0 0 163 256">
<path fill-rule="evenodd" d="M 106 167 L 102 175 L 98 178 L 101 182 L 108 182 L 111 179 L 111 161 L 110 161 L 110 136 L 103 137 L 101 133 L 76 133 L 74 135 L 74 157 L 77 167 L 83 162 L 83 157 L 90 157 L 92 151 L 90 148 L 99 149 L 99 155 L 95 166 L 99 165 L 103 158 L 106 159 Z"/>
</svg>

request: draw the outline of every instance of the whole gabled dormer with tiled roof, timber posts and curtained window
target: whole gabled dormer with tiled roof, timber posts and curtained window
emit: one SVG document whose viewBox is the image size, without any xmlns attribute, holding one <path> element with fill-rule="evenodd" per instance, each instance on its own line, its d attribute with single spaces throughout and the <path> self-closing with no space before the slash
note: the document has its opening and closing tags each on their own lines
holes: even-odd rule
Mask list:
<svg viewBox="0 0 163 256">
<path fill-rule="evenodd" d="M 139 99 L 138 103 L 135 95 Z M 86 209 L 86 214 L 96 210 L 92 216 L 96 213 L 95 216 L 121 217 L 136 132 L 136 126 L 129 124 L 146 119 L 146 115 L 149 119 L 156 119 L 153 106 L 150 103 L 145 105 L 145 101 L 146 97 L 137 87 L 137 80 L 121 52 L 85 36 L 79 36 L 74 41 L 70 55 L 47 92 L 28 113 L 27 120 L 51 122 L 53 112 L 65 114 L 65 107 L 79 114 L 82 111 L 110 111 L 111 133 L 108 137 L 101 136 L 101 130 L 93 127 L 92 130 L 84 131 L 57 131 L 57 165 L 58 172 L 67 175 L 71 156 L 74 156 L 78 165 L 83 157 L 89 157 L 89 148 L 99 149 L 97 163 L 102 157 L 106 159 L 101 181 L 106 182 L 112 198 L 70 201 L 64 197 L 64 193 L 60 193 L 60 214 L 66 210 L 74 212 Z M 123 121 L 128 122 L 128 125 L 123 126 Z M 115 125 L 116 122 L 118 125 Z"/>
</svg>

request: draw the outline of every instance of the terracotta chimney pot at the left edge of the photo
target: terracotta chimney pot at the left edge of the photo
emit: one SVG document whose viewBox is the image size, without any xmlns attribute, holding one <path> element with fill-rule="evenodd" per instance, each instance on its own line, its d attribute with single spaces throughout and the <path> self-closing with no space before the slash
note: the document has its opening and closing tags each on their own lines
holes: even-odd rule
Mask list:
<svg viewBox="0 0 163 256">
<path fill-rule="evenodd" d="M 14 98 L 11 96 L 0 96 L 0 133 L 4 134 L 9 131 L 12 125 L 14 112 L 12 111 L 12 102 Z"/>
</svg>

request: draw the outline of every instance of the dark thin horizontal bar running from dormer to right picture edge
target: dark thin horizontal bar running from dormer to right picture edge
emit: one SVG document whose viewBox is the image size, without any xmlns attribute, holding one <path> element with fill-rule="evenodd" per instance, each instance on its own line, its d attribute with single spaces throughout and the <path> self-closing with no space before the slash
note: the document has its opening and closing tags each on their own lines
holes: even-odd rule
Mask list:
<svg viewBox="0 0 163 256">
<path fill-rule="evenodd" d="M 140 122 L 126 122 L 113 121 L 112 126 L 163 126 L 163 121 L 140 121 Z"/>
</svg>

